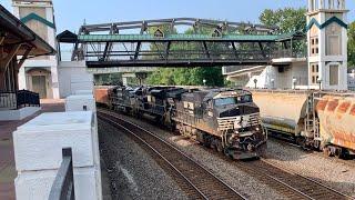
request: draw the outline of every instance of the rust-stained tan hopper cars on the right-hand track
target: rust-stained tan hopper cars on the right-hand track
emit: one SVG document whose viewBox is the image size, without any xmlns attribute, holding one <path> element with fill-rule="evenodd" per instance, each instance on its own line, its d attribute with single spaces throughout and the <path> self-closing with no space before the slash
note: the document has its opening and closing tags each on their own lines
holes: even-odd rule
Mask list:
<svg viewBox="0 0 355 200">
<path fill-rule="evenodd" d="M 355 154 L 355 93 L 250 90 L 268 133 L 346 158 Z"/>
</svg>

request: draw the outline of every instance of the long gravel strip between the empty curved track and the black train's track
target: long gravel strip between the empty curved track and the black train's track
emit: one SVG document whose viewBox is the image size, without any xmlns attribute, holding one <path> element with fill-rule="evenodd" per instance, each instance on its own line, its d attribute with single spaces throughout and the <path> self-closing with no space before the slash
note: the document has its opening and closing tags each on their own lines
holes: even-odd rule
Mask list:
<svg viewBox="0 0 355 200">
<path fill-rule="evenodd" d="M 232 188 L 246 196 L 248 199 L 285 199 L 274 189 L 261 183 L 257 179 L 250 177 L 242 170 L 235 168 L 234 164 L 227 162 L 216 153 L 212 153 L 202 148 L 195 141 L 189 140 L 181 136 L 175 136 L 166 130 L 160 129 L 149 122 L 140 121 L 132 117 L 119 114 L 125 120 L 141 126 L 161 138 L 170 141 L 187 156 L 196 160 L 200 164 L 206 167 L 215 176 L 221 178 Z"/>
</svg>

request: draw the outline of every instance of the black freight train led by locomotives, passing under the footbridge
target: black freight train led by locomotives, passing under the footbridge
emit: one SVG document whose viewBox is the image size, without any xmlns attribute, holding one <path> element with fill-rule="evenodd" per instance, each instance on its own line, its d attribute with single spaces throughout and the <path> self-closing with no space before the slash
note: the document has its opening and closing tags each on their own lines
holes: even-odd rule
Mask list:
<svg viewBox="0 0 355 200">
<path fill-rule="evenodd" d="M 97 102 L 159 121 L 233 159 L 263 156 L 267 136 L 252 93 L 178 87 L 97 88 Z"/>
</svg>

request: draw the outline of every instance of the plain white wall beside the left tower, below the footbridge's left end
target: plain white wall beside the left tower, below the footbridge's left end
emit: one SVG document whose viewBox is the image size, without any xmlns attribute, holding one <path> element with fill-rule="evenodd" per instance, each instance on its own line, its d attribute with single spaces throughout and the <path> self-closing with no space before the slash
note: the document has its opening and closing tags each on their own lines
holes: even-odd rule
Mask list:
<svg viewBox="0 0 355 200">
<path fill-rule="evenodd" d="M 85 61 L 62 61 L 58 66 L 60 97 L 67 98 L 78 90 L 93 91 L 93 74 Z"/>
</svg>

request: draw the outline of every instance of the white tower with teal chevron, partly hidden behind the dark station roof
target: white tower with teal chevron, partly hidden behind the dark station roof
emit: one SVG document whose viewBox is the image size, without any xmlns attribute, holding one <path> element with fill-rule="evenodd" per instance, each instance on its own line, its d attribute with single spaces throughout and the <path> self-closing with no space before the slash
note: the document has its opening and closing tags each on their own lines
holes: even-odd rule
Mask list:
<svg viewBox="0 0 355 200">
<path fill-rule="evenodd" d="M 16 17 L 57 49 L 52 0 L 12 0 L 12 7 Z M 19 89 L 38 92 L 44 99 L 58 99 L 57 56 L 41 56 L 27 60 L 19 71 Z"/>
</svg>

